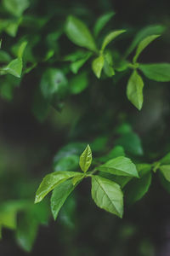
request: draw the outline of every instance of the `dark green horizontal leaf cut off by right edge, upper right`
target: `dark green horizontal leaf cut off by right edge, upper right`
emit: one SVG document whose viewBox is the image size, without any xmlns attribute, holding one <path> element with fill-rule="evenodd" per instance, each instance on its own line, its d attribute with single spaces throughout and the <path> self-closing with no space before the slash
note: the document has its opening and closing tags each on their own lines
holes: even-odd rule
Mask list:
<svg viewBox="0 0 170 256">
<path fill-rule="evenodd" d="M 148 79 L 158 82 L 170 81 L 170 64 L 156 63 L 156 64 L 139 64 L 139 69 L 144 73 Z"/>
</svg>

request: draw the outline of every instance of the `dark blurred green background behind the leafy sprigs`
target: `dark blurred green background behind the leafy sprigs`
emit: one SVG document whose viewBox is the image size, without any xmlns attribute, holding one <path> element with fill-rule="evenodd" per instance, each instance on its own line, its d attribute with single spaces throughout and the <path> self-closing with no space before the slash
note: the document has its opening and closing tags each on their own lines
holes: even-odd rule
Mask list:
<svg viewBox="0 0 170 256">
<path fill-rule="evenodd" d="M 170 62 L 169 1 L 35 0 L 29 4 L 15 36 L 5 32 L 0 23 L 4 49 L 10 48 L 14 53 L 17 40 L 29 34 L 33 46 L 28 62 L 32 65 L 31 58 L 39 61 L 37 67 L 23 77 L 20 87 L 11 85 L 9 88 L 3 85 L 1 78 L 0 229 L 3 238 L 0 254 L 169 256 L 170 195 L 166 189 L 170 191 L 170 186 L 162 181 L 165 189 L 158 177 L 154 177 L 149 193 L 141 201 L 125 206 L 122 219 L 94 205 L 88 180 L 77 187 L 55 222 L 49 197 L 39 205 L 33 205 L 42 177 L 66 167 L 58 154 L 65 144 L 67 151 L 74 148 L 77 155 L 87 143 L 92 145 L 94 154 L 103 147 L 126 144 L 125 149 L 130 154 L 136 154 L 135 151 L 137 159 L 149 162 L 170 151 L 169 83 L 144 80 L 144 108 L 141 112 L 127 101 L 128 73 L 117 77 L 116 81 L 100 81 L 87 71 L 88 89 L 67 96 L 62 110 L 43 102 L 38 90 L 47 65 L 67 68 L 62 61 L 53 60 L 48 64 L 41 61 L 48 48 L 48 38 L 51 37 L 49 40 L 53 45 L 50 47 L 54 47 L 59 58 L 75 49 L 64 34 L 59 35 L 67 15 L 76 15 L 92 29 L 100 15 L 115 12 L 104 34 L 111 29 L 127 29 L 127 36 L 115 45 L 122 54 L 144 26 L 165 26 L 162 37 L 144 50 L 141 62 Z M 0 22 L 11 15 L 4 9 L 2 1 Z M 88 70 L 88 66 L 85 69 Z M 68 79 L 71 78 L 69 73 Z M 126 143 L 121 142 L 116 133 L 121 125 L 133 130 L 133 139 L 127 138 Z M 133 149 L 128 148 L 129 143 Z M 74 160 L 68 156 L 69 160 L 74 166 Z"/>
</svg>

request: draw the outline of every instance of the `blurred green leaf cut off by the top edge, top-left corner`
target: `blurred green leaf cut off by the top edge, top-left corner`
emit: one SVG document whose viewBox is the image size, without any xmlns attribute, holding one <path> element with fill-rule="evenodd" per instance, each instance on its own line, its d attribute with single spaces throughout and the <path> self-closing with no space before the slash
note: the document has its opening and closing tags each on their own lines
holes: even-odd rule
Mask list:
<svg viewBox="0 0 170 256">
<path fill-rule="evenodd" d="M 3 6 L 11 15 L 20 16 L 29 7 L 28 0 L 3 0 Z"/>
</svg>

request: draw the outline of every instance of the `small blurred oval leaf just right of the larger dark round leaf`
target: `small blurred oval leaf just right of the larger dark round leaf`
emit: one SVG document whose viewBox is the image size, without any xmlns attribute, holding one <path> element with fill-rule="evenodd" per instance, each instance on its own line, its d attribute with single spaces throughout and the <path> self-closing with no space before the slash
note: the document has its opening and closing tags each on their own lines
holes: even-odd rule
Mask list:
<svg viewBox="0 0 170 256">
<path fill-rule="evenodd" d="M 79 94 L 82 90 L 85 90 L 88 87 L 88 73 L 83 72 L 77 75 L 70 80 L 69 83 L 71 94 Z"/>
</svg>

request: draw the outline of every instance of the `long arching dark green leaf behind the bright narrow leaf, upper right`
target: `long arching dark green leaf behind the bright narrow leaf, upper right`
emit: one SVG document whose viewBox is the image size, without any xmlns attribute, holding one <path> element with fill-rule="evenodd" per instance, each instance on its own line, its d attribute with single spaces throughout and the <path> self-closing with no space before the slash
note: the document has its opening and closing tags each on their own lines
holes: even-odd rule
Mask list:
<svg viewBox="0 0 170 256">
<path fill-rule="evenodd" d="M 133 42 L 130 45 L 130 47 L 127 49 L 125 57 L 127 57 L 127 55 L 129 55 L 133 51 L 133 49 L 136 48 L 139 42 L 141 42 L 144 38 L 147 38 L 151 35 L 161 34 L 162 32 L 165 31 L 165 29 L 166 27 L 161 25 L 145 26 L 144 28 L 142 28 L 133 38 Z"/>
</svg>

